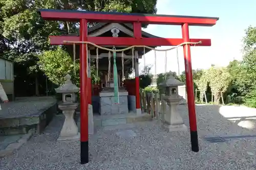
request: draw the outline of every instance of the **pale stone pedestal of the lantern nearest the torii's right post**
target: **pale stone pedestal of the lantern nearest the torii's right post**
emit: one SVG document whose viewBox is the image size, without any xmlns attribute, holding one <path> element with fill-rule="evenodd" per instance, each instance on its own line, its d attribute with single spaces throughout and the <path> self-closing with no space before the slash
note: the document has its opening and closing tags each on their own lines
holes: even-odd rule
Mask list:
<svg viewBox="0 0 256 170">
<path fill-rule="evenodd" d="M 184 124 L 183 119 L 177 110 L 177 106 L 182 99 L 183 98 L 180 95 L 163 96 L 163 100 L 165 100 L 167 105 L 169 106 L 169 109 L 164 115 L 163 123 L 163 128 L 166 129 L 168 132 L 187 130 L 187 127 Z"/>
</svg>

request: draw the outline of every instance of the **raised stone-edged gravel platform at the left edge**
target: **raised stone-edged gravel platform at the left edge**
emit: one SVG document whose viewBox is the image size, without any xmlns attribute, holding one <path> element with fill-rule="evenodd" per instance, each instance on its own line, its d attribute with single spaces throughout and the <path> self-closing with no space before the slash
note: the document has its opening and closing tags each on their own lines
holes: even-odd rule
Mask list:
<svg viewBox="0 0 256 170">
<path fill-rule="evenodd" d="M 56 110 L 55 100 L 45 105 L 33 100 L 5 104 L 0 112 L 0 135 L 27 134 L 31 129 L 40 134 L 51 122 Z"/>
</svg>

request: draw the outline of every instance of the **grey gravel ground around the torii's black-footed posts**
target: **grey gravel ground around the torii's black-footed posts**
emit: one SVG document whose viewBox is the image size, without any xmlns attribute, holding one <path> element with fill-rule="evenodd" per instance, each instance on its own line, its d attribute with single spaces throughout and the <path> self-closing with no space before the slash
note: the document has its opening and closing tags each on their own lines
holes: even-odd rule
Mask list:
<svg viewBox="0 0 256 170">
<path fill-rule="evenodd" d="M 125 129 L 98 131 L 90 136 L 90 162 L 79 164 L 79 142 L 56 142 L 63 116 L 56 116 L 44 134 L 0 160 L 0 169 L 256 169 L 256 139 L 209 143 L 205 136 L 255 134 L 219 113 L 219 106 L 197 106 L 200 152 L 190 151 L 189 132 L 163 131 L 156 121 Z M 179 106 L 188 125 L 186 106 Z M 256 114 L 256 113 L 255 113 Z M 238 114 L 236 114 L 237 117 Z M 127 132 L 127 131 L 126 131 Z"/>
</svg>

